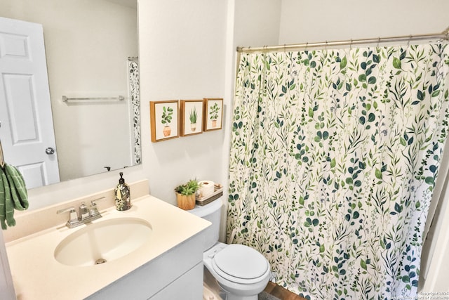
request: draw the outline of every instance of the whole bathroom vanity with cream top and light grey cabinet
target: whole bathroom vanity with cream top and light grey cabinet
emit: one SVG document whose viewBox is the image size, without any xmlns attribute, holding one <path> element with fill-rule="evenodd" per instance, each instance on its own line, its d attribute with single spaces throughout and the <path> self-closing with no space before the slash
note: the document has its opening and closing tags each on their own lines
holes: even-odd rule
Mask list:
<svg viewBox="0 0 449 300">
<path fill-rule="evenodd" d="M 86 225 L 67 228 L 62 223 L 8 242 L 18 299 L 202 299 L 202 239 L 210 223 L 151 195 L 133 199 L 132 203 L 128 211 L 100 209 L 102 218 Z M 123 242 L 130 248 L 115 256 L 105 253 L 112 257 L 107 262 L 95 265 L 80 260 L 77 256 L 83 255 L 82 249 L 72 249 L 73 260 L 70 256 L 55 259 L 61 247 L 82 247 L 82 243 L 65 242 L 81 232 L 88 233 L 86 244 L 105 243 L 100 239 L 101 232 L 91 232 L 89 226 L 128 226 L 128 221 L 147 226 L 142 235 L 145 240 L 138 236 L 137 245 L 132 240 Z M 112 240 L 125 238 L 107 235 Z"/>
</svg>

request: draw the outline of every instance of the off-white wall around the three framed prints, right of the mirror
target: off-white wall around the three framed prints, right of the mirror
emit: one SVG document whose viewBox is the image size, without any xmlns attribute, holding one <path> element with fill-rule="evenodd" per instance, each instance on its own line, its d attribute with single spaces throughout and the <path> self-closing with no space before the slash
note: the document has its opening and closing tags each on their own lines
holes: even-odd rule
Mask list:
<svg viewBox="0 0 449 300">
<path fill-rule="evenodd" d="M 221 0 L 139 1 L 143 162 L 150 193 L 172 204 L 189 178 L 222 183 L 220 131 L 151 143 L 149 101 L 225 98 L 227 3 Z M 229 105 L 229 98 L 224 104 Z"/>
</svg>

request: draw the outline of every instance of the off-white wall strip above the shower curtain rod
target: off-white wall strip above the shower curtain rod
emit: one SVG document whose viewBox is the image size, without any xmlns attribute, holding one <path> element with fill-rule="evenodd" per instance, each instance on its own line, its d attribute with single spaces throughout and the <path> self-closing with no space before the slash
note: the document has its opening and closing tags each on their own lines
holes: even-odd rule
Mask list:
<svg viewBox="0 0 449 300">
<path fill-rule="evenodd" d="M 447 0 L 282 0 L 279 44 L 442 32 Z"/>
</svg>

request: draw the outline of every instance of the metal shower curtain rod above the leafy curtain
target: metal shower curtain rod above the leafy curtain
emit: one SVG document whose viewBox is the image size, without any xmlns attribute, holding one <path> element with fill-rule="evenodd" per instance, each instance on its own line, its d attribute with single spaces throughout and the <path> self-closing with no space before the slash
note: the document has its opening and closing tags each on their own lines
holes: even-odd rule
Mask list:
<svg viewBox="0 0 449 300">
<path fill-rule="evenodd" d="M 237 52 L 269 52 L 269 51 L 294 51 L 294 50 L 307 50 L 309 48 L 321 48 L 321 47 L 333 47 L 333 46 L 353 46 L 362 44 L 380 44 L 391 43 L 397 41 L 425 41 L 425 40 L 449 40 L 449 27 L 441 33 L 435 34 L 416 34 L 398 37 L 377 37 L 375 39 L 350 39 L 344 41 L 321 41 L 318 43 L 305 43 L 305 44 L 289 44 L 278 46 L 263 46 L 263 47 L 237 47 Z"/>
</svg>

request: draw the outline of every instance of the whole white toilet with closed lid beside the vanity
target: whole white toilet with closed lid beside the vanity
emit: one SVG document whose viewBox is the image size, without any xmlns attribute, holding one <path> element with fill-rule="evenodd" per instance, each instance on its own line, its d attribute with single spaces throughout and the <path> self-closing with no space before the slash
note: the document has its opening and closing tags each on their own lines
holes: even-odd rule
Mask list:
<svg viewBox="0 0 449 300">
<path fill-rule="evenodd" d="M 222 202 L 220 199 L 189 210 L 212 223 L 206 229 L 203 263 L 226 292 L 227 300 L 257 300 L 267 286 L 269 262 L 255 249 L 242 244 L 218 242 Z"/>
</svg>

